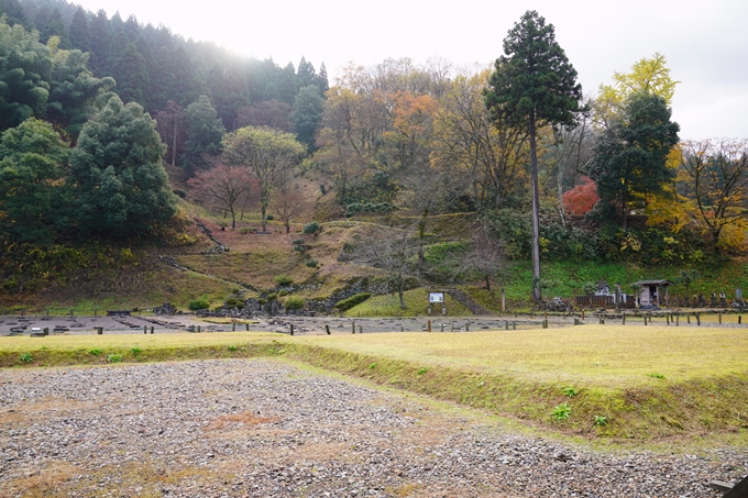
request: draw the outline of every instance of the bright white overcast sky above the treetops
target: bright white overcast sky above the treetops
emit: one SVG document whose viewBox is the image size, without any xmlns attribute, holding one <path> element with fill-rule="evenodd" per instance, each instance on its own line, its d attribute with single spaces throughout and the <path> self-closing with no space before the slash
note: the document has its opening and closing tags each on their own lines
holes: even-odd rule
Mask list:
<svg viewBox="0 0 748 498">
<path fill-rule="evenodd" d="M 681 139 L 748 139 L 748 2 L 746 0 L 537 0 L 426 2 L 413 0 L 72 0 L 122 19 L 164 24 L 187 38 L 213 41 L 285 66 L 306 56 L 324 62 L 334 82 L 348 62 L 385 58 L 461 66 L 490 65 L 502 40 L 528 9 L 556 26 L 556 36 L 586 93 L 613 73 L 656 52 L 681 81 L 673 119 Z"/>
</svg>

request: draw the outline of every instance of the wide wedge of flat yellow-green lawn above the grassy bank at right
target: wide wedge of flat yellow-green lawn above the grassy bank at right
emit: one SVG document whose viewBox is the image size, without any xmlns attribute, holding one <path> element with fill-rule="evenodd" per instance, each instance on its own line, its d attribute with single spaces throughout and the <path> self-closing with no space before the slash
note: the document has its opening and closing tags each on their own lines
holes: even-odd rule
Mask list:
<svg viewBox="0 0 748 498">
<path fill-rule="evenodd" d="M 297 341 L 372 356 L 536 380 L 606 387 L 721 377 L 748 372 L 748 329 L 585 325 L 460 334 L 363 334 Z"/>
</svg>

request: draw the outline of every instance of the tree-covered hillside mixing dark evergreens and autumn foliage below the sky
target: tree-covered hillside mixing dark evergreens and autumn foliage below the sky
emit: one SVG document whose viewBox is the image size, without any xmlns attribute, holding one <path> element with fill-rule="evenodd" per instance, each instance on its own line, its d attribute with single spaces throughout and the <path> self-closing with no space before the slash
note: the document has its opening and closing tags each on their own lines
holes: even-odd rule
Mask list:
<svg viewBox="0 0 748 498">
<path fill-rule="evenodd" d="M 245 234 L 306 223 L 320 240 L 329 221 L 389 225 L 397 234 L 359 231 L 330 254 L 377 268 L 393 291 L 491 287 L 532 257 L 525 284 L 539 300 L 560 288 L 539 261 L 657 273 L 748 247 L 746 140 L 680 142 L 678 81 L 658 53 L 583 93 L 537 12 L 494 67 L 387 59 L 330 85 L 301 55 L 279 66 L 134 16 L 53 0 L 0 0 L 0 11 L 7 291 L 31 288 L 13 272 L 32 248 L 184 245 L 197 213 Z M 532 33 L 542 51 L 527 51 Z M 435 235 L 435 217 L 450 213 L 472 224 Z M 289 251 L 318 269 L 307 242 Z"/>
</svg>

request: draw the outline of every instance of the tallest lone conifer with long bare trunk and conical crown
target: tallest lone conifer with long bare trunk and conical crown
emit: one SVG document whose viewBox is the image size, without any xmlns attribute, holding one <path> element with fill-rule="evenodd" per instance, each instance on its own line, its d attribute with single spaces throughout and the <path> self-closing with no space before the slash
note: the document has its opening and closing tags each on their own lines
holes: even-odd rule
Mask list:
<svg viewBox="0 0 748 498">
<path fill-rule="evenodd" d="M 492 119 L 527 126 L 532 176 L 532 299 L 540 295 L 540 226 L 536 131 L 547 124 L 572 126 L 580 111 L 582 86 L 576 71 L 556 42 L 553 24 L 527 11 L 504 38 L 485 100 Z"/>
</svg>

